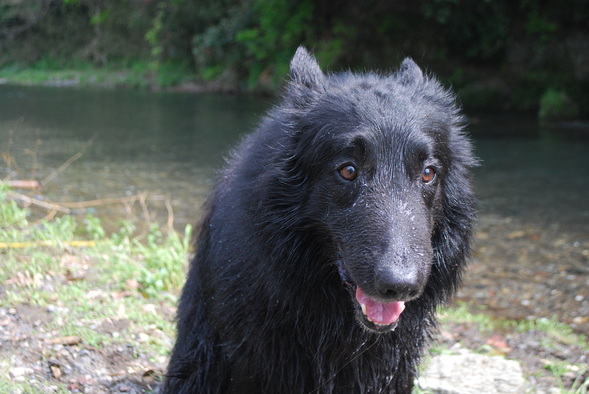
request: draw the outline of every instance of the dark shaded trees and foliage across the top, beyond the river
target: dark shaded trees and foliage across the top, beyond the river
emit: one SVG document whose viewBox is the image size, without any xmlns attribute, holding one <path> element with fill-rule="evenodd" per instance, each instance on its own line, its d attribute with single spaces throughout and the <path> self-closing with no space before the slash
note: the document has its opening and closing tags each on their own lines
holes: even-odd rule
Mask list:
<svg viewBox="0 0 589 394">
<path fill-rule="evenodd" d="M 469 110 L 587 118 L 588 20 L 585 0 L 0 0 L 0 69 L 116 68 L 140 76 L 123 84 L 274 91 L 304 44 L 330 70 L 411 56 Z"/>
</svg>

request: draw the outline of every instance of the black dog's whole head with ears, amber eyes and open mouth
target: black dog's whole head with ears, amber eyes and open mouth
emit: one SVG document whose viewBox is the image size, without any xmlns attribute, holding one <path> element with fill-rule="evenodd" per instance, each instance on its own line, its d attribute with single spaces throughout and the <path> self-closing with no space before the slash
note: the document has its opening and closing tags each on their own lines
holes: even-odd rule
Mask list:
<svg viewBox="0 0 589 394">
<path fill-rule="evenodd" d="M 306 185 L 298 213 L 332 245 L 358 319 L 389 331 L 459 282 L 474 218 L 463 119 L 410 59 L 392 76 L 325 75 L 299 48 L 290 76 L 282 182 Z"/>
</svg>

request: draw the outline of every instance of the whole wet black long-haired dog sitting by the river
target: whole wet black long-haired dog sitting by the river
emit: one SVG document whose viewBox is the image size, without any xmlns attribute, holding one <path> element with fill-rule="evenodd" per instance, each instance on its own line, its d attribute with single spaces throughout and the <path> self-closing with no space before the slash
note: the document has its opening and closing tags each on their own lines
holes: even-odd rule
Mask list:
<svg viewBox="0 0 589 394">
<path fill-rule="evenodd" d="M 408 393 L 460 281 L 475 160 L 453 96 L 410 59 L 325 75 L 300 48 L 290 77 L 208 201 L 167 393 Z"/>
</svg>

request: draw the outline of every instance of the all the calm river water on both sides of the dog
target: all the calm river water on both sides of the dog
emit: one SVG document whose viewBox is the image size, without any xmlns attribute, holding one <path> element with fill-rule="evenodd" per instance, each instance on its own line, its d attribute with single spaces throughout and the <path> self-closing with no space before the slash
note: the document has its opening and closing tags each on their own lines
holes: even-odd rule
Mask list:
<svg viewBox="0 0 589 394">
<path fill-rule="evenodd" d="M 55 202 L 169 196 L 181 230 L 197 221 L 230 147 L 270 105 L 245 96 L 0 85 L 0 177 L 49 176 L 34 197 Z M 540 128 L 519 114 L 470 121 L 482 163 L 480 219 L 458 298 L 510 317 L 558 316 L 589 333 L 589 132 Z M 139 205 L 89 211 L 113 228 L 120 218 L 170 216 L 155 197 Z"/>
</svg>

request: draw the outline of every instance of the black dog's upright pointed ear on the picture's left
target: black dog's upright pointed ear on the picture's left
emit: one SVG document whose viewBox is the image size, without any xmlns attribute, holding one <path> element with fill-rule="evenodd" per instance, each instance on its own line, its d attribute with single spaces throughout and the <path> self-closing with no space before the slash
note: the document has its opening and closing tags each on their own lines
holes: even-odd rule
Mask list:
<svg viewBox="0 0 589 394">
<path fill-rule="evenodd" d="M 290 62 L 289 90 L 299 94 L 302 90 L 324 92 L 326 78 L 315 57 L 311 56 L 304 47 L 299 47 Z"/>
</svg>

